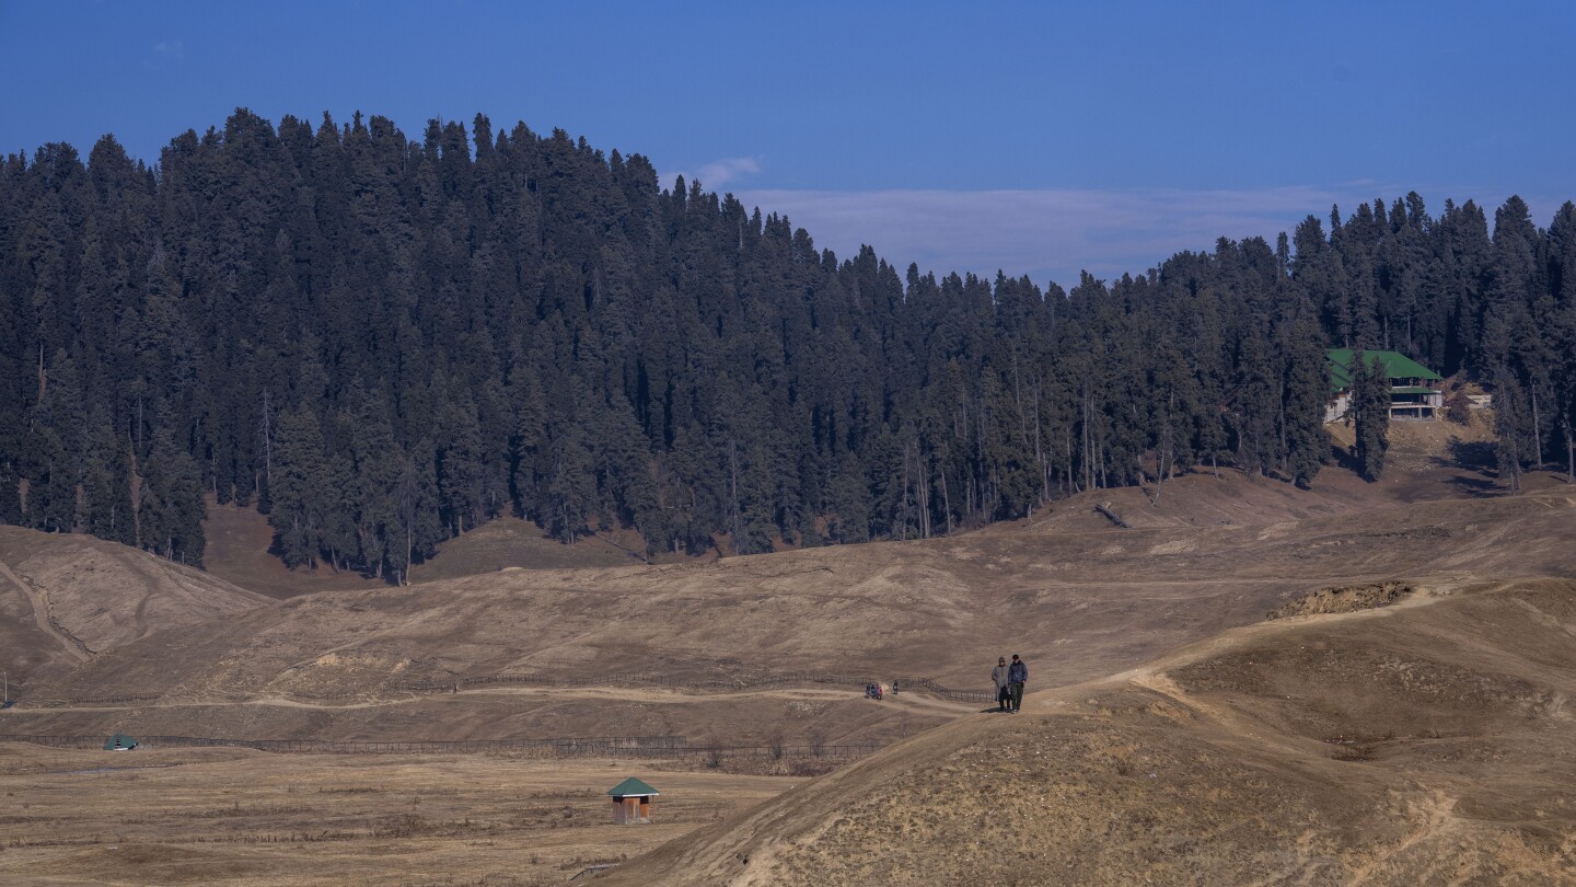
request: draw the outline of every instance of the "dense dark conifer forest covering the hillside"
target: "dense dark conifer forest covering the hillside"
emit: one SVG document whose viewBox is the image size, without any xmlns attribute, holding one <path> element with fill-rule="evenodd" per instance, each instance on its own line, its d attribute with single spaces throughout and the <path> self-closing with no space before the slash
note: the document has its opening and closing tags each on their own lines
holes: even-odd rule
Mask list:
<svg viewBox="0 0 1576 887">
<path fill-rule="evenodd" d="M 1307 485 L 1327 346 L 1466 371 L 1513 466 L 1568 458 L 1576 207 L 1491 235 L 1409 194 L 1064 292 L 840 259 L 485 117 L 238 110 L 158 167 L 104 137 L 0 170 L 0 519 L 191 563 L 206 494 L 292 565 L 402 581 L 501 513 L 758 552 L 1195 466 Z"/>
</svg>

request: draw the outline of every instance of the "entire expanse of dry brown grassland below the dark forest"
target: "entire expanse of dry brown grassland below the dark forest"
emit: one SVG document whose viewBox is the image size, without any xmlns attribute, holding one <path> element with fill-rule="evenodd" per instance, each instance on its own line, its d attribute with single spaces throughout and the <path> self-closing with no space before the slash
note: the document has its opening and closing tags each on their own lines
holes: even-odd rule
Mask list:
<svg viewBox="0 0 1576 887">
<path fill-rule="evenodd" d="M 0 742 L 0 881 L 1576 884 L 1576 491 L 1502 496 L 1485 434 L 1401 426 L 1377 485 L 1199 472 L 709 562 L 500 522 L 400 589 L 288 573 L 246 513 L 216 515 L 211 573 L 5 529 L 0 734 L 879 750 Z M 979 691 L 1010 652 L 1015 717 L 857 685 Z M 656 824 L 611 824 L 627 775 Z"/>
</svg>

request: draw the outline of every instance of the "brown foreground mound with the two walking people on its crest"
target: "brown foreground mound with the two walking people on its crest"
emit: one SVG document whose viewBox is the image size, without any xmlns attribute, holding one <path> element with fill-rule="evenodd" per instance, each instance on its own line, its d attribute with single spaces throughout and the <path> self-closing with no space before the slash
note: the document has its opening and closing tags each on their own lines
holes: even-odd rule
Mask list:
<svg viewBox="0 0 1576 887">
<path fill-rule="evenodd" d="M 608 884 L 1571 884 L 1576 582 L 1226 633 L 887 748 Z"/>
</svg>

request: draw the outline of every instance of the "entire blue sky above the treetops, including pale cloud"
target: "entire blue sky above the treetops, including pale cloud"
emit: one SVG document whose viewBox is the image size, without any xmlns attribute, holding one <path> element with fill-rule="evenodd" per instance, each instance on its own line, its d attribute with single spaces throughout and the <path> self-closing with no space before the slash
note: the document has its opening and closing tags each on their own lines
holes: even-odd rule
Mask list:
<svg viewBox="0 0 1576 887">
<path fill-rule="evenodd" d="M 0 0 L 0 152 L 525 120 L 840 254 L 1076 281 L 1415 189 L 1576 199 L 1576 3 Z"/>
</svg>

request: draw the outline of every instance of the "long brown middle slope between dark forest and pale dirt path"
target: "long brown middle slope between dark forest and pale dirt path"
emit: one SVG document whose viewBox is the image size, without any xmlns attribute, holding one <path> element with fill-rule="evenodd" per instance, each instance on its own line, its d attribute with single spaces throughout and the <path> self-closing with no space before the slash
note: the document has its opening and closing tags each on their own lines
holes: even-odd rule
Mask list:
<svg viewBox="0 0 1576 887">
<path fill-rule="evenodd" d="M 1248 499 L 1284 485 L 1196 478 Z M 1330 584 L 1576 574 L 1576 494 L 1392 505 L 1267 526 L 1056 532 L 714 563 L 503 571 L 292 598 L 99 657 L 63 698 L 377 696 L 391 682 L 531 671 L 675 677 L 920 674 L 983 688 L 1132 668 Z"/>
</svg>

